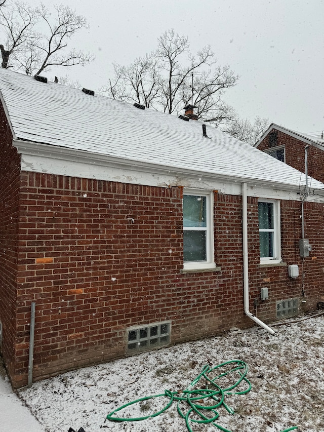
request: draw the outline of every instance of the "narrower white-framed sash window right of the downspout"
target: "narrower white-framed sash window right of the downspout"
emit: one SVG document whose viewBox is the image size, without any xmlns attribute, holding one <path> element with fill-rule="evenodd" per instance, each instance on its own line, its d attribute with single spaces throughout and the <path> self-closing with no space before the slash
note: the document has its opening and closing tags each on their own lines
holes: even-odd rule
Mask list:
<svg viewBox="0 0 324 432">
<path fill-rule="evenodd" d="M 277 201 L 259 201 L 260 262 L 281 262 L 280 206 Z"/>
</svg>

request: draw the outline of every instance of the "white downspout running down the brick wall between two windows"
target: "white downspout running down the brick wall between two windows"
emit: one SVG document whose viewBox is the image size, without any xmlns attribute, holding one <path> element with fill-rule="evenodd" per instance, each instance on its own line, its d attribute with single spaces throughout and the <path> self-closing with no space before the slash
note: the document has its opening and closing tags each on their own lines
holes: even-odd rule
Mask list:
<svg viewBox="0 0 324 432">
<path fill-rule="evenodd" d="M 246 315 L 263 327 L 270 334 L 274 334 L 269 326 L 253 315 L 249 310 L 249 254 L 248 254 L 248 192 L 247 183 L 242 183 L 242 229 L 243 229 L 243 285 L 244 285 L 244 311 Z"/>
</svg>

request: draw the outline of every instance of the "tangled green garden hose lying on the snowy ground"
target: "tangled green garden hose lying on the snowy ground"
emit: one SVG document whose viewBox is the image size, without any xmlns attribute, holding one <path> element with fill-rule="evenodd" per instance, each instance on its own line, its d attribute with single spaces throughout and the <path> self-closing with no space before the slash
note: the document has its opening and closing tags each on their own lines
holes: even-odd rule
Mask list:
<svg viewBox="0 0 324 432">
<path fill-rule="evenodd" d="M 227 370 L 213 377 L 215 371 L 217 371 L 217 369 L 220 368 L 227 368 Z M 220 385 L 217 384 L 216 382 L 217 380 L 218 383 L 220 383 L 222 378 L 225 378 L 228 375 L 233 373 L 236 373 L 239 376 L 239 378 L 236 380 L 234 384 L 229 385 L 225 388 L 222 388 Z M 185 390 L 182 390 L 180 394 L 177 391 L 165 390 L 164 393 L 161 393 L 159 395 L 151 395 L 145 398 L 136 399 L 135 401 L 129 402 L 128 404 L 116 408 L 114 411 L 112 411 L 110 414 L 107 415 L 107 419 L 111 421 L 145 420 L 149 417 L 156 417 L 157 415 L 165 412 L 173 404 L 174 401 L 177 401 L 178 413 L 185 420 L 189 432 L 192 432 L 190 423 L 211 424 L 216 428 L 222 430 L 223 432 L 231 432 L 231 430 L 226 429 L 225 427 L 216 423 L 216 420 L 219 417 L 219 413 L 217 412 L 217 409 L 223 406 L 229 412 L 229 414 L 234 414 L 234 410 L 225 403 L 224 401 L 225 396 L 245 395 L 251 390 L 252 385 L 246 376 L 247 373 L 248 373 L 248 366 L 245 362 L 241 360 L 230 360 L 228 362 L 221 363 L 214 367 L 205 365 L 203 367 L 203 370 L 201 370 L 200 374 L 190 383 L 190 385 Z M 197 386 L 201 378 L 205 378 L 205 380 L 207 381 L 206 387 L 194 389 L 194 387 Z M 242 382 L 247 385 L 247 388 L 243 390 L 234 391 L 235 387 L 237 387 Z M 160 397 L 165 397 L 168 399 L 168 403 L 160 411 L 157 411 L 153 414 L 149 414 L 144 417 L 134 417 L 134 418 L 115 417 L 115 414 L 118 411 L 123 410 L 124 408 L 127 408 L 138 402 L 148 401 L 150 399 L 160 398 Z M 207 401 L 209 402 L 209 405 L 204 404 L 205 400 L 206 402 Z M 187 410 L 186 412 L 183 412 L 181 405 L 184 405 L 185 403 L 187 404 Z M 209 412 L 211 416 L 207 417 L 202 411 L 205 411 L 206 413 Z M 191 415 L 194 414 L 196 414 L 196 417 L 198 418 L 191 418 Z M 297 428 L 298 426 L 293 426 L 293 427 L 289 427 L 288 429 L 281 430 L 281 432 L 289 432 L 290 430 L 294 430 Z"/>
</svg>

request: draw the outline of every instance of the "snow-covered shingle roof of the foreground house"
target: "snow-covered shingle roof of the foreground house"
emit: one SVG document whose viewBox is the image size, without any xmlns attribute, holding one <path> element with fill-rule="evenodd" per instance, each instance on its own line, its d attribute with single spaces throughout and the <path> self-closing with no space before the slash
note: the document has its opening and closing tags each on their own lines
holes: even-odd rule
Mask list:
<svg viewBox="0 0 324 432">
<path fill-rule="evenodd" d="M 7 69 L 0 69 L 0 91 L 15 140 L 227 180 L 305 184 L 299 171 L 211 125 L 205 137 L 200 122 Z M 312 180 L 312 188 L 323 187 Z"/>
</svg>

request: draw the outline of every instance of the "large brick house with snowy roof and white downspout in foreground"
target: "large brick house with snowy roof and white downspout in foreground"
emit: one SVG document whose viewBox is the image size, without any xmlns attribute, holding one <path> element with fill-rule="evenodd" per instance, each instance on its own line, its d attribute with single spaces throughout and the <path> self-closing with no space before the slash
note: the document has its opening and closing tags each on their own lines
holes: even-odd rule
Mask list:
<svg viewBox="0 0 324 432">
<path fill-rule="evenodd" d="M 310 199 L 299 171 L 212 126 L 38 80 L 0 69 L 14 386 L 30 352 L 39 380 L 233 326 L 273 333 L 323 300 L 322 183 Z"/>
</svg>

